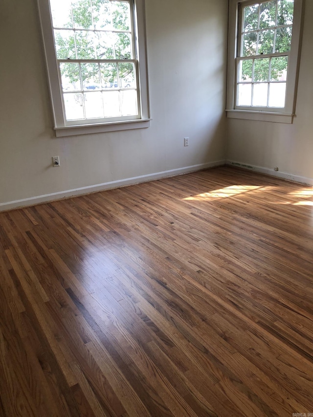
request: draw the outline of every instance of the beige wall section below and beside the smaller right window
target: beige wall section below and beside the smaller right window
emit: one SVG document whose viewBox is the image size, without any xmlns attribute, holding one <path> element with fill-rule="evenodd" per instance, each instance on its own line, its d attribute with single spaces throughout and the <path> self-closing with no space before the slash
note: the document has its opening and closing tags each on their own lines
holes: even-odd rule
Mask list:
<svg viewBox="0 0 313 417">
<path fill-rule="evenodd" d="M 227 119 L 227 159 L 313 180 L 313 1 L 306 1 L 293 124 Z"/>
</svg>

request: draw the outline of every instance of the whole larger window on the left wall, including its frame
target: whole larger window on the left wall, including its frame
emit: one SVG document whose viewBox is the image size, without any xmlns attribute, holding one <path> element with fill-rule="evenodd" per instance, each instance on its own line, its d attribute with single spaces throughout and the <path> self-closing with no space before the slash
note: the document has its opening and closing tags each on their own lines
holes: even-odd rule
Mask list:
<svg viewBox="0 0 313 417">
<path fill-rule="evenodd" d="M 149 125 L 143 0 L 38 0 L 58 136 Z"/>
</svg>

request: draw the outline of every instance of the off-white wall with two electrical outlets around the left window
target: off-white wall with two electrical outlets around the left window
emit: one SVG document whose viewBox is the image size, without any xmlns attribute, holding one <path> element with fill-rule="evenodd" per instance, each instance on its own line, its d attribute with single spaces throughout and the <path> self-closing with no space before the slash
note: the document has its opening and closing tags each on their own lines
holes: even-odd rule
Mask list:
<svg viewBox="0 0 313 417">
<path fill-rule="evenodd" d="M 146 0 L 151 127 L 56 138 L 36 0 L 2 0 L 2 209 L 14 200 L 223 161 L 227 3 Z"/>
</svg>

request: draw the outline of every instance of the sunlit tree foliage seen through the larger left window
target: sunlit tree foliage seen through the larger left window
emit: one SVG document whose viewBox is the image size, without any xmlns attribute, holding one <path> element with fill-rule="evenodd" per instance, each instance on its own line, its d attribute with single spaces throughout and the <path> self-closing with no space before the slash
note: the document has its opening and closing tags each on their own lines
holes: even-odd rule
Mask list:
<svg viewBox="0 0 313 417">
<path fill-rule="evenodd" d="M 58 59 L 131 59 L 132 40 L 130 5 L 125 1 L 89 0 L 72 1 L 72 7 L 64 24 L 68 29 L 55 29 L 55 45 Z M 120 31 L 120 32 L 119 32 Z M 112 87 L 119 77 L 124 83 L 134 81 L 133 63 L 62 63 L 63 80 L 73 86 L 82 82 L 100 87 Z M 80 77 L 80 72 L 82 77 Z M 81 88 L 81 87 L 80 87 Z M 80 89 L 78 88 L 78 89 Z"/>
</svg>

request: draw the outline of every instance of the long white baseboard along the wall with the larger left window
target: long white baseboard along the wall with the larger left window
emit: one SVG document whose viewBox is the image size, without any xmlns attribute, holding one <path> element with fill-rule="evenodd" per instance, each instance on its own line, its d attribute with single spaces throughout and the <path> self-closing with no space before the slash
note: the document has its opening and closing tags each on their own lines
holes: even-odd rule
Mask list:
<svg viewBox="0 0 313 417">
<path fill-rule="evenodd" d="M 190 172 L 201 171 L 207 168 L 214 168 L 225 165 L 225 161 L 207 162 L 206 164 L 192 165 L 189 167 L 177 168 L 169 171 L 162 171 L 154 174 L 134 176 L 133 178 L 120 179 L 117 181 L 104 182 L 103 184 L 90 185 L 88 187 L 76 188 L 74 190 L 61 191 L 59 193 L 44 194 L 42 196 L 24 198 L 22 200 L 9 201 L 0 203 L 0 211 L 12 210 L 21 207 L 29 207 L 36 204 L 47 203 L 49 201 L 56 201 L 63 198 L 70 198 L 74 196 L 82 196 L 98 191 L 111 190 L 114 188 L 121 188 L 127 185 L 140 184 L 142 182 L 153 181 L 160 178 L 167 178 L 170 176 L 178 176 Z"/>
</svg>

